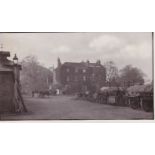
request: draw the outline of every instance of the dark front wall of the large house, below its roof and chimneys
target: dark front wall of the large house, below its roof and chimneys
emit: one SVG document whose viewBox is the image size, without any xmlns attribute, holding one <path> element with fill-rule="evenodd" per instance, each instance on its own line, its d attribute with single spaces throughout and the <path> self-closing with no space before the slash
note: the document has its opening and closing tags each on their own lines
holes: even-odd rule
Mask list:
<svg viewBox="0 0 155 155">
<path fill-rule="evenodd" d="M 67 71 L 68 69 L 69 71 Z M 76 69 L 78 70 L 77 72 Z M 84 69 L 86 70 L 85 72 L 83 72 Z M 104 86 L 106 81 L 106 72 L 103 66 L 76 67 L 62 65 L 60 72 L 61 83 L 62 85 L 68 85 L 70 92 L 96 91 Z M 68 80 L 67 77 L 69 77 Z"/>
</svg>

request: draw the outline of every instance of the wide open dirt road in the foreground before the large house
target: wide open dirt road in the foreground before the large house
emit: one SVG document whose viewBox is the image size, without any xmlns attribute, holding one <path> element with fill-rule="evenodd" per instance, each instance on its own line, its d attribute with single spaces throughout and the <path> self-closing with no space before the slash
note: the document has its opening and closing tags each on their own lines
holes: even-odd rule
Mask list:
<svg viewBox="0 0 155 155">
<path fill-rule="evenodd" d="M 74 96 L 25 98 L 28 113 L 2 115 L 2 120 L 130 120 L 153 119 L 153 113 L 77 100 Z"/>
</svg>

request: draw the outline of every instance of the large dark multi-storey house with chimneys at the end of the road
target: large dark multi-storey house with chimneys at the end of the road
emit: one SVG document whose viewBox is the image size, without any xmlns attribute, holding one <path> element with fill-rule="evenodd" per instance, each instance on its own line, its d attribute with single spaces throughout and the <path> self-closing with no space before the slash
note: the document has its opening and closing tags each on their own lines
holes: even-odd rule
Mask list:
<svg viewBox="0 0 155 155">
<path fill-rule="evenodd" d="M 58 66 L 53 75 L 54 84 L 61 85 L 66 93 L 95 91 L 106 82 L 106 70 L 100 60 L 96 63 L 86 61 L 62 64 L 58 58 Z"/>
</svg>

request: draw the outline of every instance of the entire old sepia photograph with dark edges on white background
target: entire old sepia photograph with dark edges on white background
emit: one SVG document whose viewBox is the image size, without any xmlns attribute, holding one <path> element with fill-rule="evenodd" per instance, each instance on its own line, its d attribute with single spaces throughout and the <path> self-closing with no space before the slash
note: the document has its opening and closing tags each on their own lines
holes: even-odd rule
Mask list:
<svg viewBox="0 0 155 155">
<path fill-rule="evenodd" d="M 153 120 L 153 35 L 0 33 L 0 120 Z"/>
</svg>

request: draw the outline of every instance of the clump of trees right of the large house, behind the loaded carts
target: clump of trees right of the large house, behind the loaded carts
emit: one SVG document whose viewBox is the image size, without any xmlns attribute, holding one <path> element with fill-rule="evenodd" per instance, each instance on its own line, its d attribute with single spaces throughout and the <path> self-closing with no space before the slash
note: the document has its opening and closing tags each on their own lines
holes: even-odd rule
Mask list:
<svg viewBox="0 0 155 155">
<path fill-rule="evenodd" d="M 113 61 L 104 64 L 106 68 L 106 82 L 108 86 L 128 87 L 135 84 L 144 84 L 146 76 L 139 68 L 127 65 L 118 70 Z"/>
</svg>

